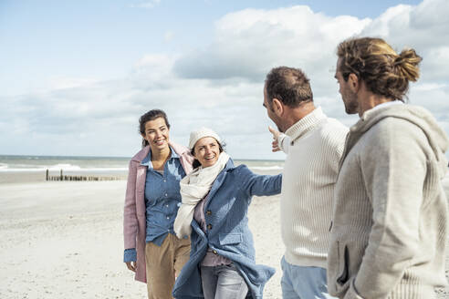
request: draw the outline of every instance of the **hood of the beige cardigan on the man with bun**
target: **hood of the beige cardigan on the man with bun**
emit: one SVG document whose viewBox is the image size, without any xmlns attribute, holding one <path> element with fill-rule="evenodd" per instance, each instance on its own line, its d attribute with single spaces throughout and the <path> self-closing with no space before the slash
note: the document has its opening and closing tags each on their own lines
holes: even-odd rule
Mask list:
<svg viewBox="0 0 449 299">
<path fill-rule="evenodd" d="M 449 148 L 449 139 L 444 130 L 437 124 L 433 115 L 422 107 L 405 104 L 366 111 L 360 120 L 350 128 L 350 135 L 347 140 L 348 151 L 363 133 L 386 118 L 405 119 L 423 130 L 438 162 L 441 177 L 444 177 L 448 166 L 444 153 Z"/>
</svg>

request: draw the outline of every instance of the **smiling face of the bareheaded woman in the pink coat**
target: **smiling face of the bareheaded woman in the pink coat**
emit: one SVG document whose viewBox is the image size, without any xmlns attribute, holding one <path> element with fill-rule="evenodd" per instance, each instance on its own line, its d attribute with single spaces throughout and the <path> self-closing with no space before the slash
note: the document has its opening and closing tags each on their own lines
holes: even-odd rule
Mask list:
<svg viewBox="0 0 449 299">
<path fill-rule="evenodd" d="M 159 151 L 168 148 L 169 133 L 170 129 L 168 129 L 165 120 L 157 118 L 145 123 L 145 133 L 141 136 L 148 141 L 151 151 Z"/>
</svg>

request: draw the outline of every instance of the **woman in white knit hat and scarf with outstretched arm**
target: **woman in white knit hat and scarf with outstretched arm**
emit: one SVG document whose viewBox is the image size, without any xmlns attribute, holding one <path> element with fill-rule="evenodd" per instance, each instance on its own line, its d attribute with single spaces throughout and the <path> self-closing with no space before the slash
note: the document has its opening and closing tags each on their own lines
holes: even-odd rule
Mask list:
<svg viewBox="0 0 449 299">
<path fill-rule="evenodd" d="M 247 211 L 253 195 L 281 191 L 281 175 L 256 175 L 234 166 L 212 129 L 190 135 L 193 172 L 181 180 L 183 204 L 174 221 L 179 238 L 190 235 L 190 259 L 176 279 L 175 298 L 262 298 L 275 270 L 255 262 Z"/>
</svg>

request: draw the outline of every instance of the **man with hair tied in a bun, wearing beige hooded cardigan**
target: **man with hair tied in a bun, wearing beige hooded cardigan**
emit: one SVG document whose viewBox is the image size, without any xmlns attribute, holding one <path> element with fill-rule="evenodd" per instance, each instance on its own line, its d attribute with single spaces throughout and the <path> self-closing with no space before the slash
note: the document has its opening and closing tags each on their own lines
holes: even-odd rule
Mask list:
<svg viewBox="0 0 449 299">
<path fill-rule="evenodd" d="M 433 299 L 446 284 L 449 139 L 424 108 L 403 104 L 421 57 L 380 38 L 338 47 L 335 77 L 350 128 L 335 188 L 329 294 L 345 299 Z"/>
</svg>

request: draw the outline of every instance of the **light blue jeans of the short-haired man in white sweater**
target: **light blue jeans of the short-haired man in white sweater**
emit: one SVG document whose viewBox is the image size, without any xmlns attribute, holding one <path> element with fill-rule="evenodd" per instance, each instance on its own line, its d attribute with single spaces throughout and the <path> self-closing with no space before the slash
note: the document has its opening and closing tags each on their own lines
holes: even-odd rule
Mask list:
<svg viewBox="0 0 449 299">
<path fill-rule="evenodd" d="M 287 263 L 282 257 L 282 298 L 309 299 L 334 298 L 328 294 L 326 269 L 320 267 L 302 267 Z"/>
</svg>

